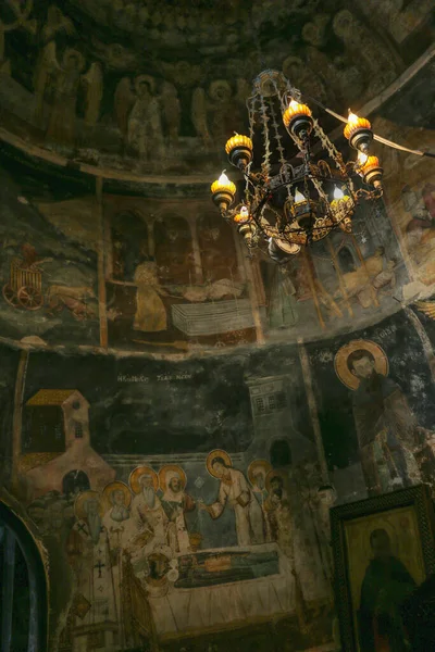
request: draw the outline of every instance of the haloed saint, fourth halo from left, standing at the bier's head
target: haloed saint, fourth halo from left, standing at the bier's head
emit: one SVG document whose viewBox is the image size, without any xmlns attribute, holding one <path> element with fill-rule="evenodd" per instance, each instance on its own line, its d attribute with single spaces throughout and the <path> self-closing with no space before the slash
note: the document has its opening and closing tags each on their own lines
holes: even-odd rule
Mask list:
<svg viewBox="0 0 435 652">
<path fill-rule="evenodd" d="M 159 480 L 163 491 L 161 503 L 169 519 L 167 543 L 174 553 L 191 552 L 185 513 L 192 512 L 196 505 L 185 492 L 186 474 L 179 466 L 166 465 L 160 469 Z"/>
</svg>

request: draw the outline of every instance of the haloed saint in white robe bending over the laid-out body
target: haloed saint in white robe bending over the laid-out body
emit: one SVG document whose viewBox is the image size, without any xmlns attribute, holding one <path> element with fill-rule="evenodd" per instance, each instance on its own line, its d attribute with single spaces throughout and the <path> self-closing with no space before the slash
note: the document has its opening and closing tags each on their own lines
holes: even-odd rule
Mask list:
<svg viewBox="0 0 435 652">
<path fill-rule="evenodd" d="M 219 518 L 226 506 L 234 510 L 239 546 L 264 543 L 263 513 L 241 471 L 232 467 L 225 451 L 212 451 L 207 459 L 209 473 L 221 481 L 217 499 L 211 505 L 200 503 L 212 518 Z"/>
</svg>

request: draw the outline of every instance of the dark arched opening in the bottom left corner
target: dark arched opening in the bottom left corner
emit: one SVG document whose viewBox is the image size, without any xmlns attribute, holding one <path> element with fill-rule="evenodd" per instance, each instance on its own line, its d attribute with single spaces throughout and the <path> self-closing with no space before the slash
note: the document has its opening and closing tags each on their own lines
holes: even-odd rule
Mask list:
<svg viewBox="0 0 435 652">
<path fill-rule="evenodd" d="M 24 523 L 1 501 L 0 614 L 2 652 L 48 649 L 48 586 L 42 557 Z"/>
</svg>

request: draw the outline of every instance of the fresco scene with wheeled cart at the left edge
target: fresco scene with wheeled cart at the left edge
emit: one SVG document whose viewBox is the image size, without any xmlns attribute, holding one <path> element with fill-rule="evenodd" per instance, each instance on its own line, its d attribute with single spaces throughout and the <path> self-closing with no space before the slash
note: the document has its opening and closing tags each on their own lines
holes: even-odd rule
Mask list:
<svg viewBox="0 0 435 652">
<path fill-rule="evenodd" d="M 92 199 L 82 196 L 55 202 L 52 189 L 40 185 L 38 176 L 23 179 L 20 166 L 8 159 L 2 162 L 2 337 L 27 338 L 42 346 L 63 344 L 66 338 L 97 343 L 97 241 L 95 227 L 89 225 Z M 65 212 L 72 217 L 67 226 Z"/>
</svg>

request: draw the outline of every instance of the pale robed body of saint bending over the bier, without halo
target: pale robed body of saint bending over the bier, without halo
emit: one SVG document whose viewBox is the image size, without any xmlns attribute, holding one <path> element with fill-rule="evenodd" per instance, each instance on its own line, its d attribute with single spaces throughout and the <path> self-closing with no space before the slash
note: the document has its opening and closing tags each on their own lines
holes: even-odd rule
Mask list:
<svg viewBox="0 0 435 652">
<path fill-rule="evenodd" d="M 208 512 L 212 518 L 219 518 L 226 505 L 234 510 L 236 516 L 238 544 L 264 543 L 263 512 L 248 480 L 236 468 L 225 468 L 217 500 L 209 505 Z"/>
</svg>

